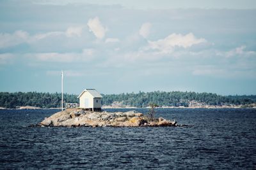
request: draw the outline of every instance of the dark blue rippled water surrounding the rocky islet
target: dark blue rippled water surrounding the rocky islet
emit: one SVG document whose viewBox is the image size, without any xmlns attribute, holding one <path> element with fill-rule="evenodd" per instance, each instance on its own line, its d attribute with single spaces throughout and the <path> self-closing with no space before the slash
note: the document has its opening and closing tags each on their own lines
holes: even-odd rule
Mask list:
<svg viewBox="0 0 256 170">
<path fill-rule="evenodd" d="M 0 110 L 0 169 L 256 169 L 255 109 L 157 109 L 189 127 L 28 127 L 56 111 Z"/>
</svg>

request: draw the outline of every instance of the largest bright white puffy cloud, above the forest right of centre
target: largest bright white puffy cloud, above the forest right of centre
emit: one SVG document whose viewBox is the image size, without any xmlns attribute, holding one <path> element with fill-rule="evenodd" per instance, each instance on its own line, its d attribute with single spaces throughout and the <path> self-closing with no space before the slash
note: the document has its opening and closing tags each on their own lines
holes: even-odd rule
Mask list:
<svg viewBox="0 0 256 170">
<path fill-rule="evenodd" d="M 175 46 L 188 48 L 192 45 L 207 42 L 204 38 L 196 38 L 193 33 L 186 35 L 170 34 L 164 39 L 157 41 L 148 41 L 148 47 L 145 50 L 158 50 L 161 53 L 172 53 Z"/>
</svg>

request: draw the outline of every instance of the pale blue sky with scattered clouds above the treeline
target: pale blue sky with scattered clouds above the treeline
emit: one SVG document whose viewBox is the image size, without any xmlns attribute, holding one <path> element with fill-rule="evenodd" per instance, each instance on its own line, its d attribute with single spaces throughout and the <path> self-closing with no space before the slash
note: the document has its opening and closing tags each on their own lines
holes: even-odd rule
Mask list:
<svg viewBox="0 0 256 170">
<path fill-rule="evenodd" d="M 0 0 L 0 91 L 256 94 L 256 1 Z"/>
</svg>

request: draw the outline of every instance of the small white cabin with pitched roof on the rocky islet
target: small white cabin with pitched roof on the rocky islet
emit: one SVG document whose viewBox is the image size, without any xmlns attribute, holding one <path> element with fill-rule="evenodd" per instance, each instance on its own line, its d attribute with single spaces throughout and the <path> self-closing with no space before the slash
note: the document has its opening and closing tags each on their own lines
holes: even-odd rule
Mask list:
<svg viewBox="0 0 256 170">
<path fill-rule="evenodd" d="M 79 98 L 80 108 L 92 111 L 101 110 L 102 96 L 97 90 L 84 89 L 77 98 Z"/>
</svg>

